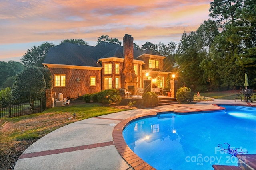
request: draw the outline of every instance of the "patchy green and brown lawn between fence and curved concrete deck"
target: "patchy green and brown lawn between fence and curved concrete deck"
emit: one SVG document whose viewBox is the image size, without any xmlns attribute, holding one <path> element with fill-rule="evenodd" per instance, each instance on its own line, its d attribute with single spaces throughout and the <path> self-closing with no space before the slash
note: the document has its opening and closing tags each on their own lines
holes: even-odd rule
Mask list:
<svg viewBox="0 0 256 170">
<path fill-rule="evenodd" d="M 0 143 L 40 138 L 69 123 L 123 110 L 115 107 L 100 106 L 99 104 L 81 104 L 54 107 L 42 113 L 1 119 Z M 68 119 L 73 117 L 73 114 L 76 115 L 75 118 Z"/>
</svg>

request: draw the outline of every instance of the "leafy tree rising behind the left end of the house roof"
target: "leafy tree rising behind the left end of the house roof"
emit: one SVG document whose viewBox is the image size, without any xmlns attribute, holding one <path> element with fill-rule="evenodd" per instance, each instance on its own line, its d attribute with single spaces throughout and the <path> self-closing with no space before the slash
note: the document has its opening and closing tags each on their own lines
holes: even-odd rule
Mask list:
<svg viewBox="0 0 256 170">
<path fill-rule="evenodd" d="M 51 47 L 55 45 L 52 43 L 42 43 L 42 45 L 36 47 L 33 46 L 31 49 L 28 49 L 25 55 L 21 57 L 21 61 L 25 67 L 29 66 L 38 66 L 42 67 L 42 63 Z"/>
</svg>

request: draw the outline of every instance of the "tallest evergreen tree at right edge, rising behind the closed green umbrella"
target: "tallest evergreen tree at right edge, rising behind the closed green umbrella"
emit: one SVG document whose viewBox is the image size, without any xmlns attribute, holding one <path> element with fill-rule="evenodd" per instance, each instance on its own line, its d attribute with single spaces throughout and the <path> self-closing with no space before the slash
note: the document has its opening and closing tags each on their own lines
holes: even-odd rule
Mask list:
<svg viewBox="0 0 256 170">
<path fill-rule="evenodd" d="M 212 63 L 218 68 L 220 86 L 243 86 L 248 71 L 249 84 L 256 79 L 256 12 L 253 0 L 214 0 L 210 16 L 218 18 L 223 31 L 216 36 L 210 49 Z"/>
</svg>

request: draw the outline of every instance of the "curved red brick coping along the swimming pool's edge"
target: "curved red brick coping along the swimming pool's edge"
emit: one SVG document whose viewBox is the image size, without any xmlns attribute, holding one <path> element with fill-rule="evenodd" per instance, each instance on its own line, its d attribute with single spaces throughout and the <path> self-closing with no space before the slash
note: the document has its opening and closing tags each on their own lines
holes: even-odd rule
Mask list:
<svg viewBox="0 0 256 170">
<path fill-rule="evenodd" d="M 248 104 L 248 103 L 247 103 Z M 204 109 L 204 110 L 198 110 L 198 112 L 204 112 L 204 111 L 218 111 L 225 109 L 224 107 L 219 106 L 220 104 L 212 104 L 214 106 L 218 106 L 218 109 Z M 240 104 L 221 104 L 221 105 L 232 105 L 232 106 L 245 106 Z M 248 106 L 252 106 L 251 104 L 248 104 Z M 247 107 L 248 107 L 247 106 Z M 252 106 L 255 107 L 255 106 Z M 160 110 L 158 110 L 160 112 Z M 163 111 L 168 112 L 168 111 Z M 194 111 L 172 111 L 174 113 L 190 113 Z M 122 134 L 122 131 L 124 130 L 124 127 L 129 124 L 130 121 L 133 121 L 135 119 L 139 119 L 142 117 L 151 117 L 157 115 L 157 112 L 151 112 L 149 114 L 145 115 L 138 115 L 134 117 L 130 117 L 128 119 L 124 119 L 120 123 L 118 123 L 113 130 L 112 137 L 114 145 L 119 152 L 119 154 L 122 156 L 122 158 L 132 167 L 134 170 L 156 170 L 154 167 L 150 166 L 148 163 L 146 163 L 142 158 L 140 158 L 137 154 L 135 154 L 130 147 L 126 144 L 124 141 L 124 137 Z"/>
</svg>

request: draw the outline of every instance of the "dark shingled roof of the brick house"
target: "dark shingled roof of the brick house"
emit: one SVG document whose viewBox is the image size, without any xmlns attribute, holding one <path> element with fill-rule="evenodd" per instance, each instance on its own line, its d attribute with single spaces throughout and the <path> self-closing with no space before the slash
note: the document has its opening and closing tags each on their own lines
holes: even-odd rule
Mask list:
<svg viewBox="0 0 256 170">
<path fill-rule="evenodd" d="M 134 59 L 143 54 L 159 55 L 152 50 L 139 51 L 134 49 Z M 98 59 L 116 57 L 124 58 L 123 47 L 118 44 L 101 42 L 96 46 L 62 43 L 49 49 L 44 63 L 76 66 L 102 67 Z"/>
</svg>

